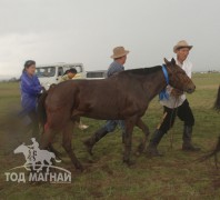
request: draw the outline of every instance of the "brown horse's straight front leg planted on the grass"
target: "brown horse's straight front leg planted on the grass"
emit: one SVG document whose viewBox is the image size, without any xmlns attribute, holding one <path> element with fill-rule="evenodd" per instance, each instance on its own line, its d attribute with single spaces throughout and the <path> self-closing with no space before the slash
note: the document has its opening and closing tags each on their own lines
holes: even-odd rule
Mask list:
<svg viewBox="0 0 220 200">
<path fill-rule="evenodd" d="M 132 146 L 132 132 L 136 122 L 137 122 L 137 118 L 134 117 L 126 120 L 123 162 L 126 162 L 128 166 L 133 164 L 133 161 L 130 160 L 130 154 L 131 154 L 131 146 Z"/>
</svg>

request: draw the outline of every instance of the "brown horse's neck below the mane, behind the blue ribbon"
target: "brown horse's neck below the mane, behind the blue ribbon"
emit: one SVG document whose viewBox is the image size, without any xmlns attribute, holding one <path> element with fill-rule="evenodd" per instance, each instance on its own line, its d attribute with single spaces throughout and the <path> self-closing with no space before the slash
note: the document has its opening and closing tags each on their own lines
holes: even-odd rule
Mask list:
<svg viewBox="0 0 220 200">
<path fill-rule="evenodd" d="M 166 84 L 162 70 L 148 74 L 143 81 L 147 98 L 152 100 L 166 87 Z"/>
</svg>

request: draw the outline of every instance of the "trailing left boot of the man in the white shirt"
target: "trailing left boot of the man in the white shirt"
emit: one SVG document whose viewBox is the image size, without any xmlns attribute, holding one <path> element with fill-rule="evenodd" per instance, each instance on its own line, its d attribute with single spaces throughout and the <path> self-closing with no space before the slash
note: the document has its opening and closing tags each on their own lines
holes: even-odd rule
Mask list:
<svg viewBox="0 0 220 200">
<path fill-rule="evenodd" d="M 162 132 L 159 129 L 156 129 L 153 136 L 151 137 L 150 143 L 147 147 L 147 153 L 151 157 L 161 157 L 162 154 L 158 152 L 158 144 L 160 140 L 162 139 L 164 132 Z"/>
</svg>

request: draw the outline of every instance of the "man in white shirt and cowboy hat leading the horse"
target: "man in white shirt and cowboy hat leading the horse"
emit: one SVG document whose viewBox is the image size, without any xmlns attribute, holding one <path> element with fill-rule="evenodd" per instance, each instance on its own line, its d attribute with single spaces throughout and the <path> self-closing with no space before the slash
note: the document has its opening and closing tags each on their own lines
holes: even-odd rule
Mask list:
<svg viewBox="0 0 220 200">
<path fill-rule="evenodd" d="M 179 41 L 173 47 L 173 52 L 177 54 L 177 57 L 174 58 L 177 64 L 180 66 L 190 78 L 191 78 L 192 63 L 187 58 L 191 49 L 192 46 L 189 46 L 184 40 Z M 197 148 L 191 143 L 194 117 L 190 109 L 189 102 L 186 98 L 186 94 L 182 91 L 172 88 L 171 86 L 168 86 L 166 91 L 168 93 L 168 99 L 163 98 L 160 100 L 160 103 L 163 106 L 163 110 L 164 110 L 162 122 L 157 127 L 148 146 L 147 152 L 150 156 L 161 156 L 158 152 L 157 147 L 160 140 L 162 139 L 162 137 L 164 136 L 164 133 L 167 133 L 170 130 L 170 128 L 172 128 L 177 116 L 181 121 L 184 122 L 183 136 L 182 136 L 182 140 L 183 140 L 182 150 L 184 151 L 200 150 L 200 148 Z"/>
</svg>

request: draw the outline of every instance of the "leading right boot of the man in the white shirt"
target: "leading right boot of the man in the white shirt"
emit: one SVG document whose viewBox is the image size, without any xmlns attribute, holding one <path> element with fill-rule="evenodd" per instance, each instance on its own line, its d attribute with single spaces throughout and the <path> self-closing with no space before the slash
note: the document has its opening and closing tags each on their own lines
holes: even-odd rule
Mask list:
<svg viewBox="0 0 220 200">
<path fill-rule="evenodd" d="M 200 150 L 200 148 L 194 147 L 191 143 L 191 138 L 192 138 L 192 127 L 184 126 L 183 136 L 182 136 L 182 140 L 183 140 L 182 150 L 183 151 L 199 151 Z"/>
</svg>

